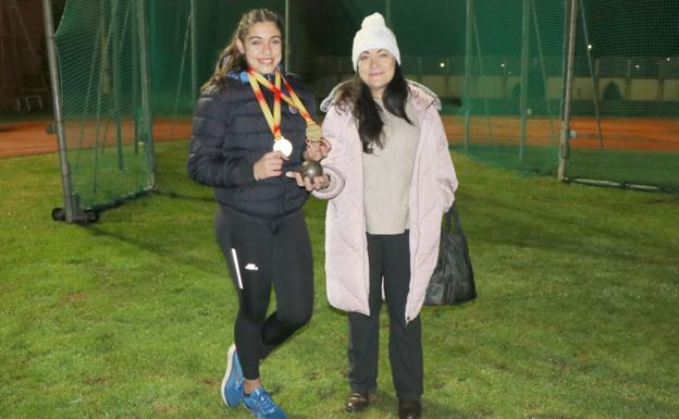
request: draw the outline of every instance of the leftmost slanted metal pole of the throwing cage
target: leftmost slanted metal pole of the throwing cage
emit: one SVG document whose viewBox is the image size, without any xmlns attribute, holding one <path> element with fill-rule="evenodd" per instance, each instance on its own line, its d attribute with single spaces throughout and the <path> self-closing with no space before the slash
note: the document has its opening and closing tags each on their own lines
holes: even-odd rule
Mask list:
<svg viewBox="0 0 679 419">
<path fill-rule="evenodd" d="M 69 167 L 66 136 L 63 126 L 61 106 L 61 85 L 57 67 L 57 46 L 54 45 L 54 19 L 52 16 L 52 3 L 42 0 L 42 16 L 45 20 L 45 37 L 47 41 L 47 58 L 49 62 L 50 86 L 52 90 L 52 107 L 54 108 L 54 132 L 59 147 L 59 165 L 61 168 L 61 187 L 64 197 L 64 218 L 72 223 L 78 210 L 73 188 L 71 187 L 71 169 Z"/>
</svg>

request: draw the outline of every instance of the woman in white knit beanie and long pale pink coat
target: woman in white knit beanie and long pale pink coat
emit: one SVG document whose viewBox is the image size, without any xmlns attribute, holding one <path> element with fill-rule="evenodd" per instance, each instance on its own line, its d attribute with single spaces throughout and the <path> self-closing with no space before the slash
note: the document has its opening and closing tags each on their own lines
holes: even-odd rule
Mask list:
<svg viewBox="0 0 679 419">
<path fill-rule="evenodd" d="M 398 415 L 413 419 L 421 416 L 423 387 L 419 312 L 457 177 L 439 99 L 403 77 L 396 38 L 379 13 L 363 20 L 353 61 L 356 77 L 321 106 L 323 137 L 332 145 L 322 161 L 325 176 L 306 186 L 330 199 L 328 298 L 349 320 L 346 409 L 368 407 L 376 389 L 384 296 Z"/>
</svg>

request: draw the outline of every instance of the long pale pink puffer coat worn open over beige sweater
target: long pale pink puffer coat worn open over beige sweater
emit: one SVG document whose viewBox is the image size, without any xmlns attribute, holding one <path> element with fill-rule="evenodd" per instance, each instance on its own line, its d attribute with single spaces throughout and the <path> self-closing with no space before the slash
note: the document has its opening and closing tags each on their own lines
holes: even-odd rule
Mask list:
<svg viewBox="0 0 679 419">
<path fill-rule="evenodd" d="M 439 99 L 423 86 L 408 82 L 420 126 L 410 183 L 410 292 L 406 323 L 415 319 L 439 256 L 441 218 L 455 199 L 457 176 L 437 112 Z M 334 93 L 334 90 L 333 90 Z M 331 98 L 334 97 L 331 93 Z M 323 137 L 332 150 L 322 161 L 328 188 L 313 195 L 330 199 L 325 217 L 325 279 L 330 304 L 345 311 L 370 315 L 369 272 L 363 212 L 362 146 L 349 109 L 324 102 Z M 388 210 L 388 209 L 385 209 Z"/>
</svg>

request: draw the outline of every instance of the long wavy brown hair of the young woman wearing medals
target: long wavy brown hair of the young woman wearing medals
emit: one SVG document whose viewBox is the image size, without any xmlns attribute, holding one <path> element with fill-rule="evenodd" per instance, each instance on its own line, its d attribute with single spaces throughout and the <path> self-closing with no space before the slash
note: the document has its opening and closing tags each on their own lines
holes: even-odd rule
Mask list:
<svg viewBox="0 0 679 419">
<path fill-rule="evenodd" d="M 245 61 L 245 54 L 238 51 L 236 40 L 240 39 L 240 42 L 245 44 L 245 37 L 247 36 L 250 27 L 256 23 L 272 22 L 276 25 L 281 32 L 281 38 L 285 38 L 283 30 L 283 20 L 275 12 L 268 9 L 252 9 L 246 12 L 238 22 L 238 26 L 231 36 L 229 45 L 220 52 L 214 65 L 214 72 L 210 78 L 202 85 L 200 91 L 208 91 L 214 88 L 221 90 L 226 85 L 226 76 L 230 72 L 242 72 L 247 70 L 247 62 Z"/>
</svg>

